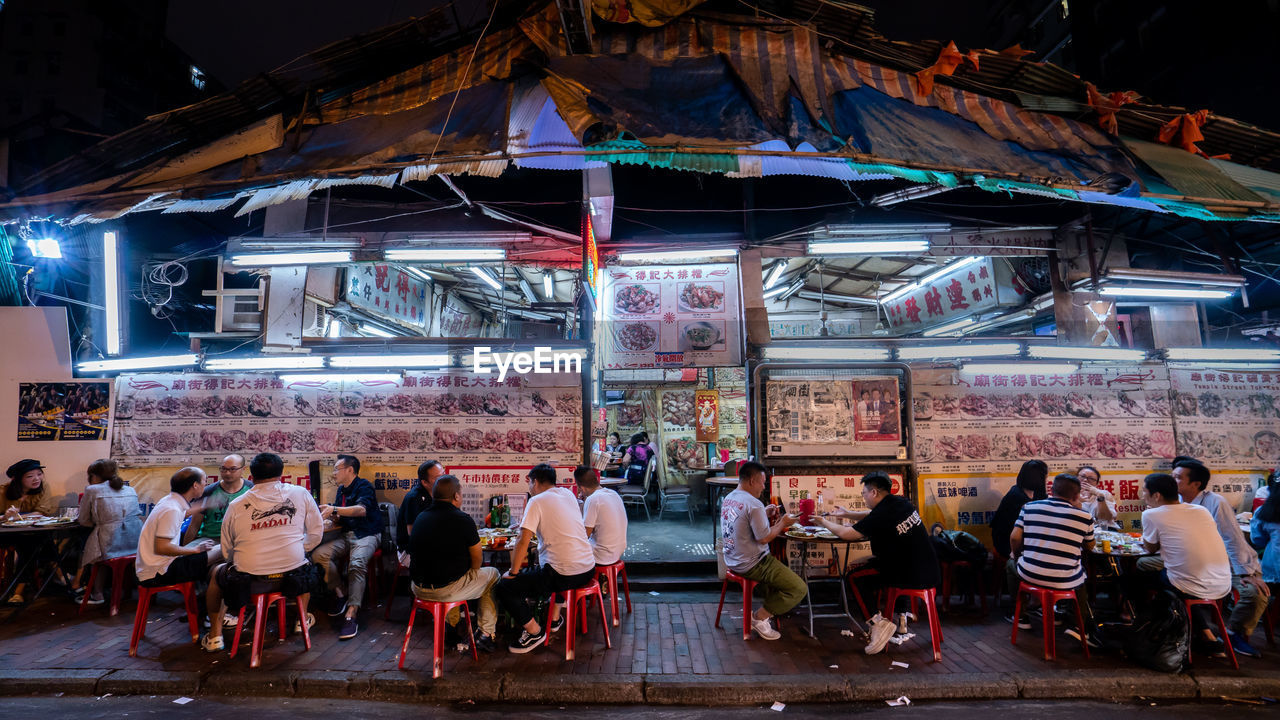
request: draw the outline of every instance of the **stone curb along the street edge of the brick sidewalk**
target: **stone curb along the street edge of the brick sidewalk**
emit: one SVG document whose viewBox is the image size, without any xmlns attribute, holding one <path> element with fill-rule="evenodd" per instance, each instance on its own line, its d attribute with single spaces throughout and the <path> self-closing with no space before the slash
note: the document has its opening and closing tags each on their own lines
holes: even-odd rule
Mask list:
<svg viewBox="0 0 1280 720">
<path fill-rule="evenodd" d="M 1217 700 L 1277 697 L 1277 675 L 1161 675 L 1146 671 L 1065 670 L 1052 675 L 524 675 L 387 670 L 165 671 L 0 669 L 0 696 L 174 694 L 253 697 L 371 697 L 424 703 L 760 706 L 773 702 L 991 700 Z"/>
</svg>

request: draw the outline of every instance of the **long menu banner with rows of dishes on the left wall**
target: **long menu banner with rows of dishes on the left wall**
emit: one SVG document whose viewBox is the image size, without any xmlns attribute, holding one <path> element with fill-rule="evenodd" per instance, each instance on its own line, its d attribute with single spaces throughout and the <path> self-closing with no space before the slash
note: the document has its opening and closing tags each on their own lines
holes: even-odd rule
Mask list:
<svg viewBox="0 0 1280 720">
<path fill-rule="evenodd" d="M 573 466 L 581 401 L 573 374 L 122 375 L 111 456 L 124 466 L 212 465 L 228 452 L 262 451 L 301 465 L 347 452 L 369 465 Z"/>
</svg>

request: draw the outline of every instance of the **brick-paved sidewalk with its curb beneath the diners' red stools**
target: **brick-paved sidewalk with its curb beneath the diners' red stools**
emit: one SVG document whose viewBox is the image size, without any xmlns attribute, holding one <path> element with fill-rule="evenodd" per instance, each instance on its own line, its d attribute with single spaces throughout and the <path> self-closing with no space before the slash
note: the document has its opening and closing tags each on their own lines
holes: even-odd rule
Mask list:
<svg viewBox="0 0 1280 720">
<path fill-rule="evenodd" d="M 430 678 L 431 633 L 420 614 L 406 670 L 397 670 L 407 602 L 398 598 L 390 621 L 381 609 L 361 615 L 361 632 L 339 641 L 328 618 L 312 629 L 305 652 L 300 635 L 284 643 L 274 633 L 262 666 L 248 669 L 248 648 L 234 660 L 205 653 L 189 641 L 177 596 L 152 605 L 147 635 L 137 657 L 128 656 L 133 602 L 116 618 L 95 607 L 84 616 L 67 601 L 42 600 L 17 620 L 0 626 L 0 694 L 111 692 L 192 694 L 297 694 L 419 697 L 475 702 L 650 702 L 755 703 L 924 698 L 1015 697 L 1169 697 L 1280 694 L 1280 648 L 1266 647 L 1261 629 L 1253 638 L 1266 657 L 1242 657 L 1242 669 L 1226 660 L 1203 659 L 1188 675 L 1164 675 L 1135 667 L 1121 657 L 1084 660 L 1079 644 L 1059 635 L 1059 660 L 1042 659 L 1038 630 L 1009 642 L 1010 625 L 996 614 L 954 611 L 942 619 L 942 661 L 932 662 L 927 625 L 919 635 L 884 653 L 867 656 L 860 641 L 841 635 L 826 621 L 818 638 L 801 632 L 799 619 L 782 624 L 783 638 L 744 642 L 740 605 L 727 602 L 714 628 L 716 596 L 634 597 L 634 612 L 611 628 L 607 650 L 595 612 L 580 635 L 577 657 L 564 661 L 563 633 L 549 647 L 524 656 L 499 651 L 445 653 L 445 675 Z M 727 598 L 728 601 L 730 598 Z M 274 612 L 270 625 L 274 625 Z M 246 632 L 246 638 L 248 632 Z M 232 634 L 227 634 L 230 643 Z M 893 661 L 908 667 L 896 667 Z"/>
</svg>

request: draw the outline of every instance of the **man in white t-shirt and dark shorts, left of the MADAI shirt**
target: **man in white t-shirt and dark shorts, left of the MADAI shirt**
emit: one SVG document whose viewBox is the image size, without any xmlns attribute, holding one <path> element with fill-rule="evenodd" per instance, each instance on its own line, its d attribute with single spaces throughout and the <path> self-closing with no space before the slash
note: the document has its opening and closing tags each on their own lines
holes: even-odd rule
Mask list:
<svg viewBox="0 0 1280 720">
<path fill-rule="evenodd" d="M 191 502 L 204 492 L 205 471 L 200 468 L 183 468 L 169 478 L 169 495 L 151 509 L 138 536 L 138 559 L 134 561 L 138 584 L 159 588 L 193 582 L 198 587 L 210 577 L 210 568 L 223 559 L 212 539 L 182 544 L 182 521 L 191 510 Z M 216 594 L 212 583 L 209 594 Z M 200 597 L 204 601 L 204 596 Z M 216 605 L 216 601 L 211 600 L 210 605 Z M 204 609 L 200 616 L 205 616 Z"/>
</svg>

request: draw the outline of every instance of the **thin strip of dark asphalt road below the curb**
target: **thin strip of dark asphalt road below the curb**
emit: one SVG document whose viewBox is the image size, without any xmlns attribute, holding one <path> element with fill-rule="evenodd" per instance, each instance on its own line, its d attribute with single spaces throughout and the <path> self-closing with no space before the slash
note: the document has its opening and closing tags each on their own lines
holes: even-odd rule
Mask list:
<svg viewBox="0 0 1280 720">
<path fill-rule="evenodd" d="M 467 720 L 509 720 L 520 716 L 530 720 L 572 720 L 603 717 L 625 712 L 628 719 L 676 720 L 705 717 L 716 720 L 742 720 L 751 717 L 812 717 L 828 720 L 833 715 L 859 715 L 870 717 L 937 717 L 946 720 L 980 719 L 989 720 L 996 714 L 1010 716 L 1034 716 L 1037 720 L 1097 720 L 1115 717 L 1124 712 L 1126 717 L 1160 717 L 1161 720 L 1212 720 L 1217 717 L 1272 717 L 1275 705 L 1248 705 L 1239 702 L 1222 703 L 1106 703 L 1106 702 L 1047 702 L 1047 701 L 1005 701 L 1005 702 L 931 702 L 909 707 L 888 707 L 884 705 L 806 705 L 787 706 L 781 712 L 768 707 L 618 707 L 618 706 L 573 706 L 573 707 L 477 707 L 468 705 L 424 706 L 401 705 L 393 702 L 374 702 L 367 700 L 273 700 L 273 698 L 221 698 L 197 697 L 186 705 L 174 703 L 172 696 L 136 697 L 9 697 L 0 701 L 4 716 L 8 717 L 58 717 L 59 720 L 96 720 L 111 717 L 164 717 L 183 720 L 188 717 L 227 719 L 234 714 L 261 710 L 285 711 L 291 720 L 310 720 L 321 717 L 407 717 L 410 714 L 428 715 L 433 719 Z M 1254 698 L 1256 700 L 1256 698 Z"/>
</svg>

